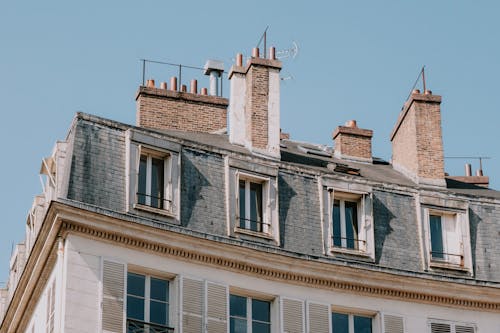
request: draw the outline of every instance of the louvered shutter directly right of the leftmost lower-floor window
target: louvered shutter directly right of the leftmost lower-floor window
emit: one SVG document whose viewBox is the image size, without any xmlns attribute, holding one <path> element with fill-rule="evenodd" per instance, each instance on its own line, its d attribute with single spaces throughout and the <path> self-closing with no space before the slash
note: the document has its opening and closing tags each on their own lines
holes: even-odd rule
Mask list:
<svg viewBox="0 0 500 333">
<path fill-rule="evenodd" d="M 182 279 L 182 329 L 203 332 L 203 281 Z"/>
</svg>

